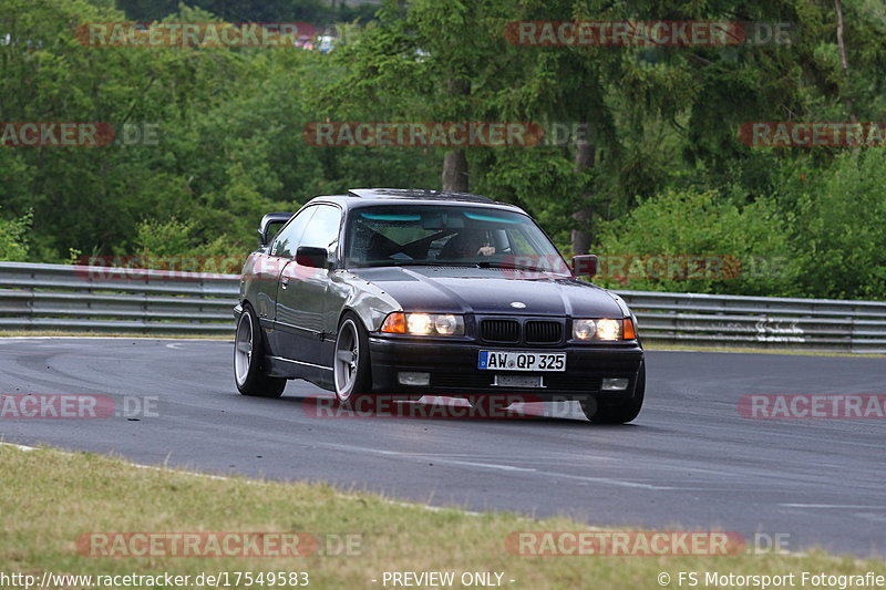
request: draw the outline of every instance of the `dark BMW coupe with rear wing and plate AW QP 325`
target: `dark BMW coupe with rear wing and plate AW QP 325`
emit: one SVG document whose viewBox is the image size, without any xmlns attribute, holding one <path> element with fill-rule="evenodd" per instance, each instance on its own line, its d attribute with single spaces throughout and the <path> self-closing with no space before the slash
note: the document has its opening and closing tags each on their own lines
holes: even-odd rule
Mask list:
<svg viewBox="0 0 886 590">
<path fill-rule="evenodd" d="M 274 230 L 284 227 L 274 234 Z M 464 194 L 353 189 L 261 219 L 240 280 L 234 373 L 244 395 L 303 379 L 358 396 L 528 393 L 597 423 L 637 417 L 636 319 L 580 280 L 518 207 Z M 274 236 L 272 239 L 270 236 Z"/>
</svg>

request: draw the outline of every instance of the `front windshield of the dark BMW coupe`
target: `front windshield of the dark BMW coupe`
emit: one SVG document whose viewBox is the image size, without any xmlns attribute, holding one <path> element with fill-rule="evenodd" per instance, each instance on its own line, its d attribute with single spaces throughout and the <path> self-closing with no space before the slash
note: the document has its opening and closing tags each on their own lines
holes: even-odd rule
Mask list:
<svg viewBox="0 0 886 590">
<path fill-rule="evenodd" d="M 351 213 L 348 267 L 470 266 L 570 275 L 525 215 L 471 206 L 378 206 Z"/>
</svg>

